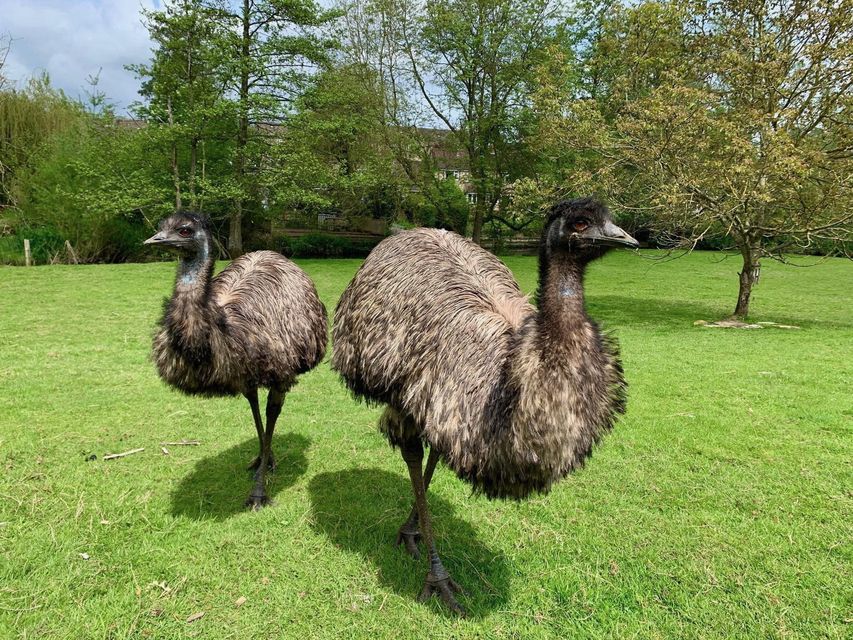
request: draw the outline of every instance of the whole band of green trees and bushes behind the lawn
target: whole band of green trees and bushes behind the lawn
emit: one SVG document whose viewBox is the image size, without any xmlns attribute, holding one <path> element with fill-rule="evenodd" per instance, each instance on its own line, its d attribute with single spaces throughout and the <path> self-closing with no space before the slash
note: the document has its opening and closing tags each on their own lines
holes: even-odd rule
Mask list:
<svg viewBox="0 0 853 640">
<path fill-rule="evenodd" d="M 851 2 L 173 0 L 136 121 L 0 62 L 0 255 L 140 259 L 182 206 L 230 255 L 329 219 L 500 243 L 596 193 L 652 244 L 738 251 L 745 316 L 763 258 L 850 250 Z"/>
</svg>

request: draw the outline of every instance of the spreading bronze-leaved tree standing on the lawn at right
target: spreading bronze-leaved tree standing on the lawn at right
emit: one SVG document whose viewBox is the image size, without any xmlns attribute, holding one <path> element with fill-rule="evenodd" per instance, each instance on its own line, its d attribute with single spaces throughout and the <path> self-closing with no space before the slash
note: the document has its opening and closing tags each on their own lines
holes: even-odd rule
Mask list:
<svg viewBox="0 0 853 640">
<path fill-rule="evenodd" d="M 543 120 L 554 144 L 590 159 L 576 183 L 617 202 L 629 191 L 674 243 L 731 238 L 743 258 L 733 315 L 743 318 L 762 257 L 851 237 L 853 2 L 665 7 L 660 15 L 683 16 L 684 47 L 654 85 L 615 113 L 574 96 L 556 115 L 553 91 Z"/>
</svg>

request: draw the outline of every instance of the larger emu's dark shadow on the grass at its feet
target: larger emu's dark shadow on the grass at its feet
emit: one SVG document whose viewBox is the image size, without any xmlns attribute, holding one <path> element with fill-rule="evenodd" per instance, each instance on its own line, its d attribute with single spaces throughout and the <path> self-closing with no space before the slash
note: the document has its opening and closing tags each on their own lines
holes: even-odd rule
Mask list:
<svg viewBox="0 0 853 640">
<path fill-rule="evenodd" d="M 409 479 L 380 469 L 351 469 L 321 473 L 311 480 L 308 490 L 311 526 L 335 546 L 360 554 L 376 567 L 383 585 L 414 601 L 429 568 L 427 554 L 421 546 L 421 559 L 416 561 L 402 547 L 394 546 L 397 529 L 412 505 Z M 474 528 L 454 515 L 446 500 L 433 491 L 427 499 L 438 553 L 465 590 L 458 596 L 459 603 L 473 618 L 500 607 L 509 589 L 504 556 L 478 541 Z M 427 606 L 454 616 L 437 598 Z"/>
</svg>

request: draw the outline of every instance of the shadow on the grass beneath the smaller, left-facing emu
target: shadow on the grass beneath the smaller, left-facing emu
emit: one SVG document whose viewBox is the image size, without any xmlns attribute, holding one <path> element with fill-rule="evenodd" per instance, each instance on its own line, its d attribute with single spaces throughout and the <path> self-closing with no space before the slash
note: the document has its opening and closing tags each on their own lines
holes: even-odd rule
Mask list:
<svg viewBox="0 0 853 640">
<path fill-rule="evenodd" d="M 308 468 L 305 452 L 311 441 L 294 433 L 273 435 L 276 469 L 267 474 L 267 495 L 291 486 Z M 258 453 L 258 439 L 199 460 L 192 473 L 172 491 L 172 515 L 196 520 L 226 520 L 247 511 L 252 491 L 252 472 L 246 467 Z M 270 507 L 275 508 L 273 503 Z"/>
</svg>

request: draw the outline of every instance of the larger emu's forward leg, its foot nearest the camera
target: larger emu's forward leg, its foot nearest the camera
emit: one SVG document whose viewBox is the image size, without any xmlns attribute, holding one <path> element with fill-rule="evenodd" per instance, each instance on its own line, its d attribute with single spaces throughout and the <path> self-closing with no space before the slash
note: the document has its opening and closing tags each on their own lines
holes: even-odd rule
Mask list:
<svg viewBox="0 0 853 640">
<path fill-rule="evenodd" d="M 421 441 L 417 438 L 407 440 L 402 447 L 403 460 L 409 467 L 409 478 L 412 480 L 412 491 L 415 494 L 415 505 L 418 509 L 418 520 L 421 525 L 424 543 L 429 549 L 429 573 L 427 574 L 424 588 L 418 596 L 420 602 L 425 602 L 433 595 L 438 595 L 444 603 L 460 616 L 465 615 L 465 609 L 456 602 L 454 593 L 459 593 L 462 588 L 453 581 L 447 569 L 441 564 L 441 558 L 435 549 L 435 540 L 432 535 L 432 522 L 427 510 L 426 493 L 424 491 L 424 478 L 421 464 L 424 459 L 424 449 Z"/>
</svg>

